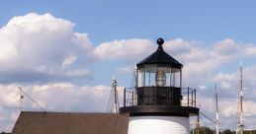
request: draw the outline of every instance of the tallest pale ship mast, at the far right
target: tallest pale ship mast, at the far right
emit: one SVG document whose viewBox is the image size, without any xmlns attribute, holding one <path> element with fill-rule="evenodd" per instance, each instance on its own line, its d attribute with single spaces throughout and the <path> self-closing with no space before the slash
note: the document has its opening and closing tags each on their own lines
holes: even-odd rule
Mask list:
<svg viewBox="0 0 256 134">
<path fill-rule="evenodd" d="M 237 111 L 237 129 L 236 134 L 243 134 L 244 131 L 244 113 L 243 113 L 243 69 L 242 61 L 240 61 L 240 90 L 239 90 L 239 109 Z"/>
</svg>

